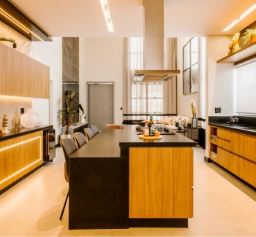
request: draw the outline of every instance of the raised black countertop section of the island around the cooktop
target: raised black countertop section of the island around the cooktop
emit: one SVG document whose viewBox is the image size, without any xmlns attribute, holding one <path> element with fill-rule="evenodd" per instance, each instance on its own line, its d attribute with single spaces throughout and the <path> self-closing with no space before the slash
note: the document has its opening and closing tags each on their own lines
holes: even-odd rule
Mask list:
<svg viewBox="0 0 256 237">
<path fill-rule="evenodd" d="M 128 147 L 195 147 L 195 141 L 176 133 L 175 135 L 162 135 L 159 140 L 139 139 L 136 132 L 137 125 L 125 125 L 120 140 L 121 148 Z"/>
</svg>

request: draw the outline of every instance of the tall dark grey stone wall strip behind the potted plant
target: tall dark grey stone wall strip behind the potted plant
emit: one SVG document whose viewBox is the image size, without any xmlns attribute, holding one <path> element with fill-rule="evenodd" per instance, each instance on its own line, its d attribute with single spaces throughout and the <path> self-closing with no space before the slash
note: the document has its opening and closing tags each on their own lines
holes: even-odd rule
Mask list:
<svg viewBox="0 0 256 237">
<path fill-rule="evenodd" d="M 79 38 L 62 38 L 62 94 L 69 95 L 75 91 L 79 104 Z M 64 105 L 63 105 L 64 106 Z M 75 123 L 79 122 L 79 113 L 75 115 Z"/>
</svg>

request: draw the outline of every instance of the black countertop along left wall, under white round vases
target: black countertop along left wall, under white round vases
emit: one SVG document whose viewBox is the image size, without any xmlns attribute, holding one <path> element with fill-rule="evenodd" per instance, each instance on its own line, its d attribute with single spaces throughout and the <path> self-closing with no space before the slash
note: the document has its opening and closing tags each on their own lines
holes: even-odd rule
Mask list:
<svg viewBox="0 0 256 237">
<path fill-rule="evenodd" d="M 24 136 L 29 133 L 35 133 L 49 128 L 53 128 L 53 125 L 41 125 L 39 127 L 34 128 L 19 128 L 19 131 L 12 131 L 12 129 L 10 129 L 10 133 L 3 133 L 2 136 L 0 136 L 0 141 L 14 139 L 15 137 L 18 136 Z"/>
</svg>

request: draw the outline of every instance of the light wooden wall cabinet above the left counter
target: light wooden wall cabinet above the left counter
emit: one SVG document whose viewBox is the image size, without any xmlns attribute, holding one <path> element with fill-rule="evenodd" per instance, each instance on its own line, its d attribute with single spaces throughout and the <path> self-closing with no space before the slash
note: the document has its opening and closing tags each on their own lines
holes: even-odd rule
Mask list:
<svg viewBox="0 0 256 237">
<path fill-rule="evenodd" d="M 50 68 L 0 43 L 0 95 L 50 98 Z"/>
</svg>

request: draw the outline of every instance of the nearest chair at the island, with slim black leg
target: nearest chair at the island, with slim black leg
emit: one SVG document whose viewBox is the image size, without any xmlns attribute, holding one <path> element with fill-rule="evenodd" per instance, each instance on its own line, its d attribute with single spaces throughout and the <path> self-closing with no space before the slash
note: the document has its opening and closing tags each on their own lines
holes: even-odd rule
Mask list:
<svg viewBox="0 0 256 237">
<path fill-rule="evenodd" d="M 71 155 L 73 155 L 77 150 L 78 147 L 75 144 L 75 141 L 73 141 L 72 139 L 61 139 L 61 141 L 59 142 L 61 144 L 61 148 L 63 150 L 64 153 L 64 157 L 65 157 L 65 170 L 64 170 L 64 174 L 65 174 L 65 179 L 67 182 L 69 182 L 69 157 Z M 63 209 L 61 211 L 61 217 L 59 219 L 62 219 L 62 216 L 64 214 L 64 210 L 67 204 L 67 198 L 69 197 L 69 191 L 67 191 L 67 197 L 66 200 L 64 202 L 64 206 Z"/>
</svg>

